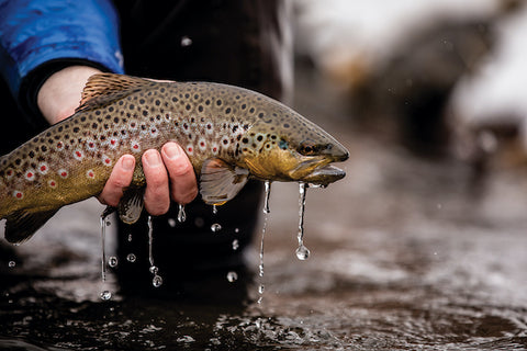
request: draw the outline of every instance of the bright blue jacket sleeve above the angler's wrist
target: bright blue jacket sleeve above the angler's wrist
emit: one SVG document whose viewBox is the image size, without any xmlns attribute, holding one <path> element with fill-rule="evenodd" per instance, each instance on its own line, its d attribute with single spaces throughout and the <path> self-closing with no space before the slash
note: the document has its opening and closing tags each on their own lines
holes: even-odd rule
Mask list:
<svg viewBox="0 0 527 351">
<path fill-rule="evenodd" d="M 111 1 L 0 0 L 0 73 L 15 99 L 27 75 L 61 59 L 123 72 Z"/>
</svg>

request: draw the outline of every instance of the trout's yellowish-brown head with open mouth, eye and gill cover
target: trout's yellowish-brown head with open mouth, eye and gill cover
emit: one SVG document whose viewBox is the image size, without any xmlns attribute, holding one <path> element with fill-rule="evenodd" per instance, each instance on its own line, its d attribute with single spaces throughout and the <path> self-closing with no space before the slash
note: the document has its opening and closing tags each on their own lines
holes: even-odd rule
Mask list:
<svg viewBox="0 0 527 351">
<path fill-rule="evenodd" d="M 330 163 L 347 160 L 348 150 L 319 126 L 283 105 L 260 116 L 242 138 L 244 161 L 253 176 L 317 185 L 346 176 Z"/>
</svg>

